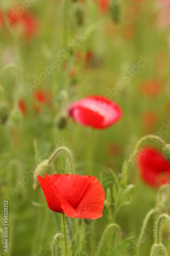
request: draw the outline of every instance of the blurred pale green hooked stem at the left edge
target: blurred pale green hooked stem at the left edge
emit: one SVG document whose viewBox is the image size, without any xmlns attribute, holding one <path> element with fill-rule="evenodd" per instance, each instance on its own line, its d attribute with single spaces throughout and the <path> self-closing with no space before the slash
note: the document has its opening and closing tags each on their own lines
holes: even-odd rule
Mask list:
<svg viewBox="0 0 170 256">
<path fill-rule="evenodd" d="M 15 82 L 15 88 L 13 93 L 13 105 L 14 108 L 17 108 L 17 102 L 18 102 L 18 88 L 22 81 L 22 72 L 19 66 L 17 66 L 14 63 L 9 63 L 6 66 L 4 66 L 0 71 L 0 78 L 10 69 L 13 69 L 16 71 L 16 82 Z"/>
</svg>

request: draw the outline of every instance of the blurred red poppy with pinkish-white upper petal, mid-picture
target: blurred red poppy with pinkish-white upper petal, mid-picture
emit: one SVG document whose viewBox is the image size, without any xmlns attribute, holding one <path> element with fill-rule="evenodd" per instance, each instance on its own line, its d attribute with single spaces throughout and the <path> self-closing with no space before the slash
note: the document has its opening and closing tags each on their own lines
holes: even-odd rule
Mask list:
<svg viewBox="0 0 170 256">
<path fill-rule="evenodd" d="M 107 128 L 123 115 L 115 102 L 103 96 L 87 97 L 76 101 L 69 106 L 68 112 L 76 122 L 94 129 Z"/>
</svg>

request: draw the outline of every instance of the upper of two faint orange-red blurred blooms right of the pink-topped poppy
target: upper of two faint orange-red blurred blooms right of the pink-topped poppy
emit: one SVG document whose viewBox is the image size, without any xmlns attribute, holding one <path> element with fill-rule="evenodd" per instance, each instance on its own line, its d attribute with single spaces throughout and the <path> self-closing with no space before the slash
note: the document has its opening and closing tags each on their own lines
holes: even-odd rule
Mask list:
<svg viewBox="0 0 170 256">
<path fill-rule="evenodd" d="M 140 86 L 140 92 L 146 96 L 157 97 L 161 91 L 161 86 L 156 80 L 145 81 Z"/>
</svg>

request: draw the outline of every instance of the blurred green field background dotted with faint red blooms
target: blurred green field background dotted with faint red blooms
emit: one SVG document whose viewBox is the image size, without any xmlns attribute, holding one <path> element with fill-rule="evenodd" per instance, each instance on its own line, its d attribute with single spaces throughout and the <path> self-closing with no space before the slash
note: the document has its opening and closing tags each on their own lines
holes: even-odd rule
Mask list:
<svg viewBox="0 0 170 256">
<path fill-rule="evenodd" d="M 33 15 L 26 24 L 19 21 L 17 11 L 25 2 L 29 7 L 23 7 L 24 12 Z M 170 114 L 170 5 L 165 8 L 166 12 L 169 8 L 166 18 L 160 5 L 164 2 L 124 0 L 115 2 L 113 8 L 112 3 L 93 0 L 1 1 L 5 21 L 0 18 L 0 68 L 15 63 L 21 74 L 20 81 L 12 70 L 0 77 L 0 104 L 5 99 L 12 113 L 14 97 L 26 108 L 22 112 L 19 109 L 19 119 L 18 113 L 17 117 L 10 115 L 0 126 L 1 228 L 4 200 L 9 202 L 9 247 L 8 253 L 4 252 L 3 231 L 1 255 L 51 255 L 44 245 L 61 231 L 61 215 L 48 209 L 41 189 L 33 189 L 32 175 L 56 146 L 67 146 L 74 155 L 76 173 L 88 175 L 93 144 L 92 175 L 106 193 L 114 182 L 110 169 L 120 174 L 124 159 L 142 136 L 155 134 L 170 142 L 169 127 L 165 134 L 160 132 Z M 13 10 L 19 15 L 15 24 L 8 19 Z M 52 61 L 57 61 L 57 67 L 47 74 Z M 45 95 L 45 100 L 37 100 L 36 93 Z M 89 95 L 103 95 L 117 102 L 123 118 L 108 129 L 95 131 L 67 118 L 65 129 L 60 130 L 57 121 L 67 114 L 68 104 Z M 55 173 L 69 173 L 65 155 L 56 160 Z M 122 207 L 115 221 L 123 238 L 133 237 L 124 255 L 135 255 L 142 221 L 155 205 L 157 190 L 142 183 L 136 164 L 128 179 L 135 184 L 132 203 Z M 66 217 L 68 242 L 77 223 L 78 219 Z M 86 223 L 85 255 L 94 255 L 108 223 L 106 208 L 102 218 Z M 150 253 L 153 225 L 151 218 L 140 255 Z M 40 254 L 42 247 L 44 254 Z"/>
</svg>

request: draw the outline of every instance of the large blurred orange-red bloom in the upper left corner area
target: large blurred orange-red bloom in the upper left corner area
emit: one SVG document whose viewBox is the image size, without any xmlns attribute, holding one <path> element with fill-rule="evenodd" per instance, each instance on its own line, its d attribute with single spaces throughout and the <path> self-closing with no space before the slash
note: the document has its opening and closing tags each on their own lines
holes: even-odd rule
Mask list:
<svg viewBox="0 0 170 256">
<path fill-rule="evenodd" d="M 24 11 L 22 14 L 17 12 L 14 14 L 14 11 L 10 11 L 8 17 L 9 25 L 20 25 L 27 38 L 31 38 L 36 34 L 38 29 L 38 19 L 34 14 L 28 11 Z"/>
</svg>

